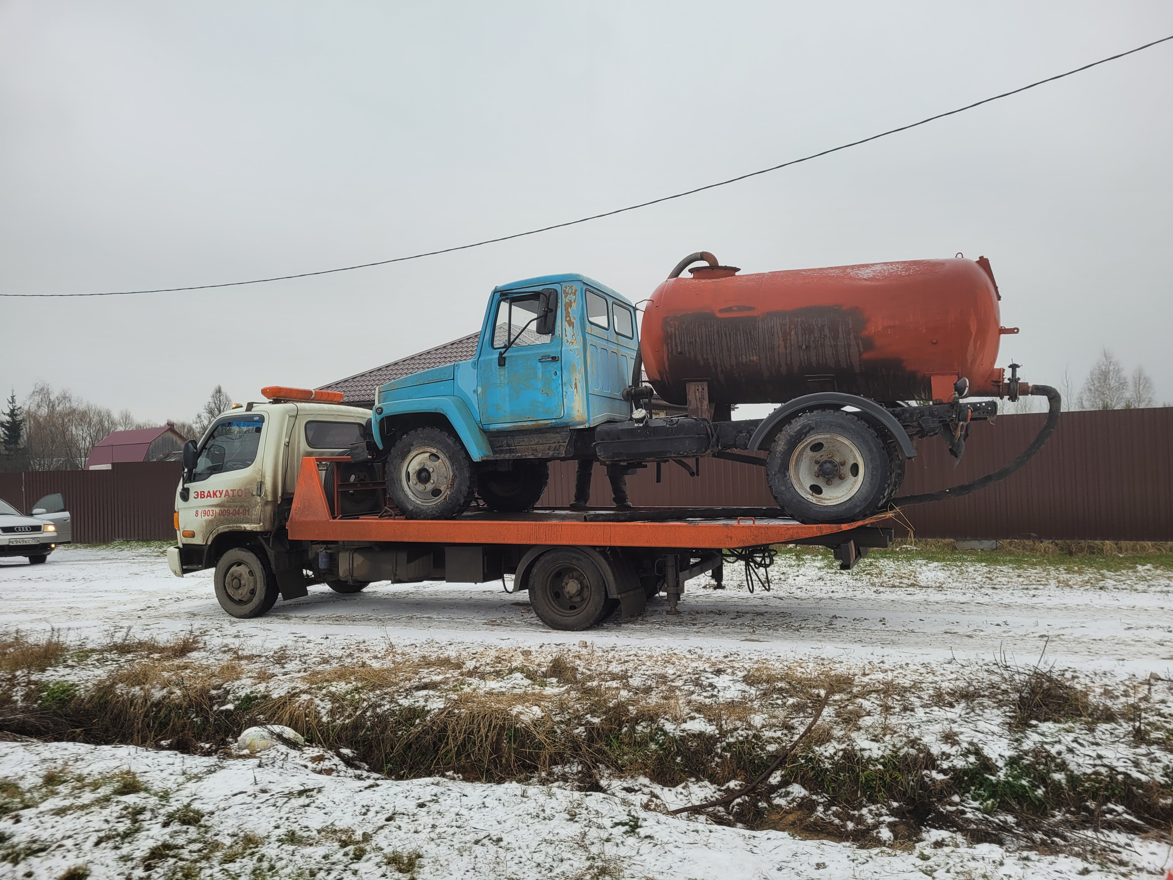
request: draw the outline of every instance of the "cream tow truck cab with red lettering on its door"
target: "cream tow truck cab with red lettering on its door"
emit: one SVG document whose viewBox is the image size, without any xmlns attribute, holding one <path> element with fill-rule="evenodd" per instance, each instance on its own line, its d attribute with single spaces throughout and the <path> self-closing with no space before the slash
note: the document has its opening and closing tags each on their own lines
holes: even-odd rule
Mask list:
<svg viewBox="0 0 1173 880">
<path fill-rule="evenodd" d="M 270 536 L 289 516 L 301 458 L 345 455 L 368 419 L 368 409 L 305 401 L 249 404 L 216 419 L 184 453 L 171 571 L 182 577 L 213 568 L 232 548 L 272 546 Z"/>
</svg>

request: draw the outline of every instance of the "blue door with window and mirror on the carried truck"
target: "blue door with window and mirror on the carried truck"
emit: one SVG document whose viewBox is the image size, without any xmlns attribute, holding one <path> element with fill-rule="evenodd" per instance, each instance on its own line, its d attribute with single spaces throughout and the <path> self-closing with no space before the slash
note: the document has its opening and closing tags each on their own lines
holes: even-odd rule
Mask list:
<svg viewBox="0 0 1173 880">
<path fill-rule="evenodd" d="M 557 307 L 557 291 L 551 293 L 547 302 Z M 561 320 L 552 321 L 552 333 L 535 332 L 542 295 L 543 291 L 536 290 L 509 291 L 497 300 L 488 327 L 493 334 L 490 343 L 481 345 L 476 363 L 481 422 L 486 428 L 524 427 L 562 419 Z"/>
</svg>

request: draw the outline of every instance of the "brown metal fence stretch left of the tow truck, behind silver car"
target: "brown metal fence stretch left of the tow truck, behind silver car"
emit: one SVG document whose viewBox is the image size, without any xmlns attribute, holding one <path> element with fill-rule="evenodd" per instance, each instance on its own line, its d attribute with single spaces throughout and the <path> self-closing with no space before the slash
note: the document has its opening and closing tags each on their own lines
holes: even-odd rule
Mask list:
<svg viewBox="0 0 1173 880">
<path fill-rule="evenodd" d="M 28 513 L 38 499 L 60 492 L 77 543 L 162 541 L 175 537 L 171 514 L 182 469 L 177 461 L 142 461 L 109 471 L 0 474 L 0 497 Z"/>
</svg>

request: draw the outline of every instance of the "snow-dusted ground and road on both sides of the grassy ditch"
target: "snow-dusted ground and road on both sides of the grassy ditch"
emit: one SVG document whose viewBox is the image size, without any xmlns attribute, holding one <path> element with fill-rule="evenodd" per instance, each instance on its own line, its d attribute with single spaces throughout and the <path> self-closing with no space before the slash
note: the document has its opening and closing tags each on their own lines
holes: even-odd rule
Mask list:
<svg viewBox="0 0 1173 880">
<path fill-rule="evenodd" d="M 802 695 L 832 683 L 836 702 L 812 735 L 828 761 L 843 749 L 915 749 L 931 761 L 924 772 L 943 779 L 970 767 L 977 747 L 994 777 L 1010 779 L 1016 760 L 1046 753 L 1071 773 L 1168 792 L 1173 576 L 1134 562 L 888 554 L 842 573 L 826 555 L 784 555 L 769 593 L 751 595 L 727 568 L 725 590 L 690 582 L 678 617 L 652 602 L 638 620 L 564 634 L 500 582 L 381 584 L 354 596 L 312 588 L 236 621 L 217 605 L 210 573 L 175 578 L 158 547 L 65 547 L 43 566 L 0 561 L 0 629 L 70 645 L 198 642 L 174 658 L 150 648 L 74 651 L 6 685 L 39 686 L 42 698 L 54 682 L 84 689 L 145 663 L 158 692 L 215 679 L 223 710 L 243 712 L 255 695 L 276 706 L 311 693 L 323 717 L 372 695 L 428 711 L 482 700 L 535 730 L 552 719 L 554 730 L 604 693 L 652 706 L 673 736 L 760 737 L 772 751 L 809 719 Z M 557 671 L 567 666 L 577 671 Z M 1011 725 L 1005 695 L 1036 669 L 1087 695 L 1082 712 L 1093 706 L 1098 720 Z M 338 749 L 152 745 L 0 743 L 0 876 L 1017 878 L 1173 867 L 1168 830 L 1138 830 L 1111 803 L 1097 806 L 1098 828 L 1032 846 L 996 798 L 956 797 L 941 813 L 949 827 L 908 834 L 895 808 L 845 812 L 795 784 L 774 792 L 762 805 L 768 821 L 751 830 L 666 814 L 719 793 L 700 780 L 665 785 L 612 769 L 583 791 L 581 767 L 520 781 L 392 780 Z M 1152 803 L 1167 808 L 1167 797 Z M 799 813 L 805 824 L 787 818 Z M 812 832 L 812 817 L 842 833 Z M 1006 833 L 974 833 L 997 827 Z"/>
</svg>

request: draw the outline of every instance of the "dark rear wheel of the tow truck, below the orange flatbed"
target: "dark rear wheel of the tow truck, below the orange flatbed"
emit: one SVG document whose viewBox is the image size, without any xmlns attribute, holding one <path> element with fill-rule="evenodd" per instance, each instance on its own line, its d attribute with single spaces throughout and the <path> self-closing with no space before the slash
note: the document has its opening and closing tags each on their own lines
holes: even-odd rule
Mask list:
<svg viewBox="0 0 1173 880">
<path fill-rule="evenodd" d="M 575 595 L 568 581 L 577 582 Z M 547 550 L 529 570 L 529 603 L 550 629 L 584 630 L 606 612 L 606 581 L 591 556 L 574 547 Z"/>
</svg>

